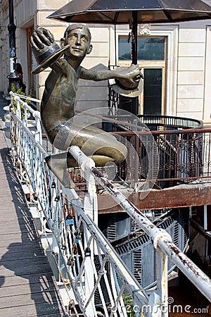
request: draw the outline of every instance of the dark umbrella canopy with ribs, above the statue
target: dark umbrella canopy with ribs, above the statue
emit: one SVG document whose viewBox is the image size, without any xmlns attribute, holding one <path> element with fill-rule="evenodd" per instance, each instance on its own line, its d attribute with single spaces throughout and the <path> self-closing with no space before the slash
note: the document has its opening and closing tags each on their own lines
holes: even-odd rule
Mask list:
<svg viewBox="0 0 211 317">
<path fill-rule="evenodd" d="M 72 23 L 172 23 L 211 18 L 211 7 L 200 0 L 72 0 L 48 18 Z"/>
</svg>

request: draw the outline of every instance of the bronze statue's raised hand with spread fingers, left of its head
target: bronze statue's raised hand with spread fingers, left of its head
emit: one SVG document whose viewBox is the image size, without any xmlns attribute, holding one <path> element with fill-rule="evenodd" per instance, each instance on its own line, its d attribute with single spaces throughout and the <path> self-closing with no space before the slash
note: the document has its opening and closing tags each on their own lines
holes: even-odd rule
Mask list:
<svg viewBox="0 0 211 317">
<path fill-rule="evenodd" d="M 49 30 L 44 29 L 44 27 L 38 27 L 30 37 L 30 44 L 37 51 L 44 49 L 44 44 L 51 46 L 53 43 L 53 35 Z"/>
</svg>

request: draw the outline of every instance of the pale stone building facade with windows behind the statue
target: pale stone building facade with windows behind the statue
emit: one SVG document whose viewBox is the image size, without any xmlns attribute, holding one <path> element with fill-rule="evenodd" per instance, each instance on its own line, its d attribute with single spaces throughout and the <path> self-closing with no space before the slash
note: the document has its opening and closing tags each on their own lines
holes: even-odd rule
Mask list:
<svg viewBox="0 0 211 317">
<path fill-rule="evenodd" d="M 67 23 L 47 17 L 68 1 L 14 0 L 16 57 L 23 67 L 27 94 L 41 99 L 49 68 L 32 75 L 36 62 L 29 44 L 37 27 L 49 29 L 56 42 Z M 7 94 L 9 74 L 8 0 L 0 2 L 0 90 Z M 82 66 L 129 66 L 128 25 L 89 25 L 93 51 Z M 211 22 L 210 20 L 163 25 L 139 25 L 139 65 L 144 87 L 139 98 L 139 114 L 181 116 L 211 123 Z M 77 108 L 87 110 L 108 104 L 108 82 L 79 80 Z"/>
</svg>

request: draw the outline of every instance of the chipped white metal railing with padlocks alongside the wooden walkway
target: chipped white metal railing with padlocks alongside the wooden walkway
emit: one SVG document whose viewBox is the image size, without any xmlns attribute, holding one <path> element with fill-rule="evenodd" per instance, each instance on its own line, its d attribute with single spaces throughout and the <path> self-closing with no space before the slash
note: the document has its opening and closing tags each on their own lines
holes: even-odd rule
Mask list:
<svg viewBox="0 0 211 317">
<path fill-rule="evenodd" d="M 11 92 L 17 111 L 11 109 L 11 142 L 14 163 L 22 182 L 29 187 L 31 202 L 37 204 L 43 235 L 49 237 L 51 257 L 58 268 L 58 282 L 67 290 L 69 309 L 75 316 L 127 316 L 125 296 L 132 300 L 136 316 L 168 316 L 167 259 L 211 300 L 210 279 L 172 243 L 170 235 L 151 223 L 136 206 L 94 166 L 78 147 L 70 154 L 78 161 L 87 181 L 84 200 L 75 189 L 60 185 L 45 162 L 45 140 L 42 137 L 39 111 L 34 111 Z M 25 109 L 20 118 L 20 104 Z M 30 123 L 27 112 L 34 117 Z M 117 256 L 97 226 L 98 182 L 120 204 L 124 211 L 151 238 L 156 249 L 157 288 L 150 295 L 141 289 L 127 266 Z M 46 226 L 47 223 L 47 226 Z M 100 315 L 102 313 L 102 315 Z"/>
</svg>

